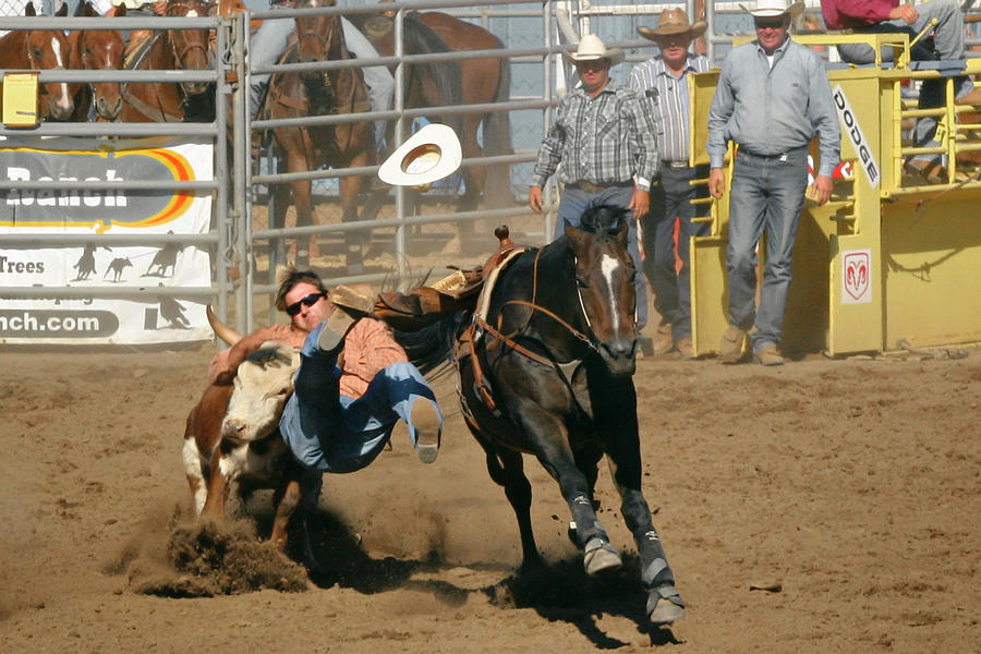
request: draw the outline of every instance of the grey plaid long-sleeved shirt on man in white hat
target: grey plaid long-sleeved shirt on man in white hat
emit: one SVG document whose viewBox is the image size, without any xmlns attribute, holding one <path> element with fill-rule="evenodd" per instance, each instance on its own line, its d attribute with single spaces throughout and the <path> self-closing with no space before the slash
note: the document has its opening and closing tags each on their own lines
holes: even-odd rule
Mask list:
<svg viewBox="0 0 981 654">
<path fill-rule="evenodd" d="M 655 134 L 650 111 L 630 88 L 610 81 L 595 98 L 573 88 L 542 142 L 531 185 L 543 187 L 561 161 L 562 183 L 617 184 L 635 174 L 647 191 L 661 167 Z"/>
</svg>

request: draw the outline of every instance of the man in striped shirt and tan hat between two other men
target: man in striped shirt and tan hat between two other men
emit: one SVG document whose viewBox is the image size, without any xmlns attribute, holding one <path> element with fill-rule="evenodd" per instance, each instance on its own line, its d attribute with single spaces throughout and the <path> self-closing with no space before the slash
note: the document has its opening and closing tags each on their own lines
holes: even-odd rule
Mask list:
<svg viewBox="0 0 981 654">
<path fill-rule="evenodd" d="M 682 359 L 692 356 L 688 243 L 691 237 L 708 233 L 707 223 L 692 222 L 692 218 L 707 213 L 707 205 L 691 204 L 695 197 L 707 197 L 705 186 L 692 186 L 691 181 L 708 177 L 708 168 L 697 170 L 688 165 L 691 116 L 688 75 L 708 70 L 708 60 L 689 52 L 689 47 L 705 27 L 703 21 L 692 25 L 682 9 L 664 10 L 656 29 L 638 28 L 641 36 L 657 44 L 661 53 L 630 72 L 630 88 L 644 96 L 651 106 L 662 158 L 661 183 L 651 190 L 650 213 L 641 216 L 644 274 L 654 289 L 654 307 L 661 314 L 654 353 L 676 350 Z M 675 267 L 676 221 L 680 271 Z"/>
</svg>

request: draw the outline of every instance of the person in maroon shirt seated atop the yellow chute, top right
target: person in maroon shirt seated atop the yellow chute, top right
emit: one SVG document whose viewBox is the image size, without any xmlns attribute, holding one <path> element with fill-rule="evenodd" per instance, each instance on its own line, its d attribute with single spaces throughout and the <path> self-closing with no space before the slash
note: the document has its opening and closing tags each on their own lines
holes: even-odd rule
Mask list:
<svg viewBox="0 0 981 654">
<path fill-rule="evenodd" d="M 965 59 L 964 50 L 964 14 L 957 0 L 931 0 L 913 7 L 899 3 L 899 0 L 821 0 L 821 12 L 831 29 L 855 29 L 858 33 L 899 33 L 908 34 L 913 39 L 927 29 L 933 20 L 937 21 L 933 28 L 933 48 L 924 48 L 917 44 L 910 50 L 916 61 L 936 61 L 938 59 Z M 934 51 L 935 49 L 935 51 Z M 841 44 L 838 46 L 841 59 L 849 63 L 868 64 L 875 62 L 875 51 L 867 44 Z M 883 47 L 882 61 L 893 61 L 893 48 Z M 933 109 L 944 106 L 944 80 L 924 80 L 920 86 L 920 109 Z M 959 76 L 955 81 L 954 96 L 957 99 L 968 95 L 974 84 L 970 77 Z M 913 128 L 913 144 L 917 147 L 935 147 L 936 117 L 924 116 L 917 119 Z M 906 171 L 921 177 L 930 184 L 945 184 L 947 171 L 944 170 L 941 155 L 916 155 L 906 161 Z"/>
</svg>

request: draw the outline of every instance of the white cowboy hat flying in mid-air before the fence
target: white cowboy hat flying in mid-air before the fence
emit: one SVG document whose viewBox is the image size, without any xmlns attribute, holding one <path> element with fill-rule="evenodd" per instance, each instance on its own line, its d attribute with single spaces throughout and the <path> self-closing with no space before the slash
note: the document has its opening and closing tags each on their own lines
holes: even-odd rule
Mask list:
<svg viewBox="0 0 981 654">
<path fill-rule="evenodd" d="M 383 182 L 393 186 L 420 186 L 448 177 L 460 168 L 463 153 L 452 128 L 429 123 L 393 152 L 378 169 Z"/>
</svg>

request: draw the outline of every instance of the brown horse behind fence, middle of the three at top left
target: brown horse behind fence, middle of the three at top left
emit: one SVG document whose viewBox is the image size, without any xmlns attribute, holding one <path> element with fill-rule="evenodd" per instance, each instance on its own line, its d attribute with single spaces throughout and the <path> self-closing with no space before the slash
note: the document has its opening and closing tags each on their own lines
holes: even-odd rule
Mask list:
<svg viewBox="0 0 981 654">
<path fill-rule="evenodd" d="M 82 10 L 86 17 L 100 17 L 88 2 Z M 126 15 L 126 7 L 116 8 L 117 16 Z M 77 29 L 71 34 L 72 70 L 110 70 L 123 68 L 123 53 L 126 45 L 118 29 Z M 119 82 L 89 82 L 72 85 L 75 98 L 73 120 L 89 120 L 89 109 L 95 107 L 98 120 L 116 121 L 122 113 L 122 94 Z"/>
</svg>

